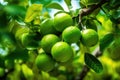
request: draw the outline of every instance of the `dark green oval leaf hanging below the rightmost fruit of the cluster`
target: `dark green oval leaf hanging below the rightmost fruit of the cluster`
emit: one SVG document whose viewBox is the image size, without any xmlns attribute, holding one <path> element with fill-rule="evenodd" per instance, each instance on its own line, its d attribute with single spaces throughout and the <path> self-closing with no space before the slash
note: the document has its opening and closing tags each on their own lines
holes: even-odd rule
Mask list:
<svg viewBox="0 0 120 80">
<path fill-rule="evenodd" d="M 85 63 L 87 66 L 92 68 L 95 72 L 100 73 L 103 70 L 103 66 L 100 61 L 89 53 L 85 53 Z"/>
</svg>

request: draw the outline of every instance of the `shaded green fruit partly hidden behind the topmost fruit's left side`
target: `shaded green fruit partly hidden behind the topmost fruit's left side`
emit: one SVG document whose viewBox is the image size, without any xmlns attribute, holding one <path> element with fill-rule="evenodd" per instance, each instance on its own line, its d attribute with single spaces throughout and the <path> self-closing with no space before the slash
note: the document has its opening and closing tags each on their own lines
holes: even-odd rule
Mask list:
<svg viewBox="0 0 120 80">
<path fill-rule="evenodd" d="M 45 19 L 40 24 L 40 32 L 42 35 L 46 34 L 54 34 L 56 33 L 56 29 L 53 27 L 53 19 Z"/>
</svg>

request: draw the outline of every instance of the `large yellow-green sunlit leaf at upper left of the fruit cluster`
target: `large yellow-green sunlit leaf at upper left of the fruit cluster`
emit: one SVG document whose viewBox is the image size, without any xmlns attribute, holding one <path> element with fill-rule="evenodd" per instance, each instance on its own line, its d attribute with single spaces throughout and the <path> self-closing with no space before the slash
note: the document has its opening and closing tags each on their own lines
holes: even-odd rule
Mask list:
<svg viewBox="0 0 120 80">
<path fill-rule="evenodd" d="M 25 22 L 29 23 L 40 15 L 42 11 L 42 4 L 32 4 L 26 13 Z"/>
</svg>

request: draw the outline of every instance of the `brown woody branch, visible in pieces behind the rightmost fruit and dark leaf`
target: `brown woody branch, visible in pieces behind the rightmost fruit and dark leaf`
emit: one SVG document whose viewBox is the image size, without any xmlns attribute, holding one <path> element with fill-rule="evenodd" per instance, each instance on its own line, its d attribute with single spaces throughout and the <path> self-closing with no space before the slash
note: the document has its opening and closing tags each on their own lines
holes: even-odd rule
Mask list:
<svg viewBox="0 0 120 80">
<path fill-rule="evenodd" d="M 94 10 L 97 8 L 101 7 L 103 4 L 107 3 L 109 0 L 101 0 L 98 4 L 93 5 L 92 7 L 89 8 L 83 8 L 80 12 L 80 14 L 77 16 L 79 17 L 79 23 L 81 24 L 81 20 L 83 16 L 87 16 L 91 14 Z M 92 53 L 95 57 L 99 57 L 102 55 L 102 52 L 100 51 L 99 47 L 95 49 L 95 51 Z M 89 72 L 90 68 L 87 67 L 87 65 L 83 66 L 82 71 L 80 74 L 75 78 L 75 80 L 83 80 L 83 78 L 86 76 L 86 74 Z"/>
</svg>

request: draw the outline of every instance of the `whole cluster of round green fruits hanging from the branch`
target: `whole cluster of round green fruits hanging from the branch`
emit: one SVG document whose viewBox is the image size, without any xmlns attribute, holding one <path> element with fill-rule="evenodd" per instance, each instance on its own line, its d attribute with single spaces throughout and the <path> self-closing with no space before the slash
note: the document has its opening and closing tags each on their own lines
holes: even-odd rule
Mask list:
<svg viewBox="0 0 120 80">
<path fill-rule="evenodd" d="M 42 21 L 40 36 L 27 33 L 27 30 L 18 38 L 20 37 L 21 43 L 27 48 L 34 47 L 36 49 L 39 47 L 43 50 L 37 56 L 35 64 L 44 71 L 51 71 L 57 62 L 63 63 L 73 59 L 72 43 L 81 41 L 83 45 L 91 47 L 98 42 L 98 34 L 95 30 L 85 29 L 80 31 L 77 26 L 73 25 L 73 19 L 67 13 L 58 13 L 54 19 Z"/>
</svg>

